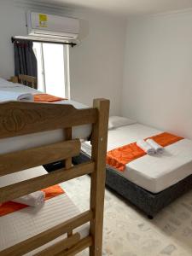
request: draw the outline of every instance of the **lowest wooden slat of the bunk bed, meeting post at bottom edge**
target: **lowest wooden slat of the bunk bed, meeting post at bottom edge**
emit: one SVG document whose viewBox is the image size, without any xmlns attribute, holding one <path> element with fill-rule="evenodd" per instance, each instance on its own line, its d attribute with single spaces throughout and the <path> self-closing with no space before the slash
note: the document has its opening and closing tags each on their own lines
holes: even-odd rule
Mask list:
<svg viewBox="0 0 192 256">
<path fill-rule="evenodd" d="M 92 245 L 92 237 L 87 236 L 84 239 L 80 240 L 75 246 L 67 250 L 66 252 L 58 253 L 56 256 L 73 256 L 77 253 L 82 252 L 85 248 L 90 247 Z M 102 254 L 101 254 L 102 256 Z"/>
</svg>

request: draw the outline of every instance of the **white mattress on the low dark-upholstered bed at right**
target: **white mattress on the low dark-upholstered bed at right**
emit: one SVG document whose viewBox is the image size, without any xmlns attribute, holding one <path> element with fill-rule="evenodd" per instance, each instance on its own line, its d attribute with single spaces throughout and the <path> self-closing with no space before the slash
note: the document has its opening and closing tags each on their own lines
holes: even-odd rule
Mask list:
<svg viewBox="0 0 192 256">
<path fill-rule="evenodd" d="M 110 130 L 108 151 L 160 132 L 162 131 L 141 124 Z M 90 143 L 82 143 L 82 150 L 90 155 Z M 125 172 L 119 173 L 143 189 L 158 193 L 192 174 L 192 141 L 183 139 L 167 146 L 164 154 L 144 155 L 131 161 L 126 165 Z"/>
</svg>

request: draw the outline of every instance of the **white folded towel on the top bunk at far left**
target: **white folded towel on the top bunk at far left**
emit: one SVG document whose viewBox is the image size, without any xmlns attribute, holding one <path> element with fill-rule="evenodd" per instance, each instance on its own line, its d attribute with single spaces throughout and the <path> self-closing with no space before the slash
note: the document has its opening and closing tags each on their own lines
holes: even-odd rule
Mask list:
<svg viewBox="0 0 192 256">
<path fill-rule="evenodd" d="M 34 96 L 31 93 L 20 93 L 16 91 L 1 90 L 0 89 L 0 102 L 34 102 Z"/>
</svg>

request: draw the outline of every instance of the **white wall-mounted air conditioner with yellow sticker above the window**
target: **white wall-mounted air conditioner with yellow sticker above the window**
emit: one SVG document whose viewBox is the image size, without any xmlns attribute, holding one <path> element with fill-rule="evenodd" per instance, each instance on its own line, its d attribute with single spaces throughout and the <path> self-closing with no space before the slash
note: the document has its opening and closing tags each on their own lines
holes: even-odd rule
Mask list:
<svg viewBox="0 0 192 256">
<path fill-rule="evenodd" d="M 39 38 L 77 39 L 79 20 L 56 15 L 29 12 L 27 15 L 29 36 Z"/>
</svg>

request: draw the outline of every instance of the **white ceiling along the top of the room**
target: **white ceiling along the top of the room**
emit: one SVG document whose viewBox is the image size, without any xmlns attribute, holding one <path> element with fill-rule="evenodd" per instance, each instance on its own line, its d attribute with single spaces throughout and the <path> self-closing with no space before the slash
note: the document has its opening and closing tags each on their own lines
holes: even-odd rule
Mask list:
<svg viewBox="0 0 192 256">
<path fill-rule="evenodd" d="M 192 9 L 192 0 L 39 0 L 38 2 L 97 9 L 125 17 Z"/>
</svg>

